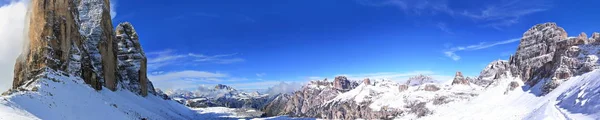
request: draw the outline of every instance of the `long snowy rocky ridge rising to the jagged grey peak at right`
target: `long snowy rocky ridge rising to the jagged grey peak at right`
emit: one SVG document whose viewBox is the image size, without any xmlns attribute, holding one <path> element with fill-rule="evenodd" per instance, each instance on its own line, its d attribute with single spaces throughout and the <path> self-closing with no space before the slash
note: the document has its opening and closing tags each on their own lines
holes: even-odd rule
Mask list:
<svg viewBox="0 0 600 120">
<path fill-rule="evenodd" d="M 592 102 L 600 96 L 600 33 L 567 36 L 556 23 L 535 25 L 508 61 L 491 62 L 475 78 L 457 72 L 448 84 L 426 76 L 365 79 L 343 90 L 332 86 L 337 78 L 311 81 L 264 111 L 325 119 L 600 119 L 600 104 Z"/>
</svg>

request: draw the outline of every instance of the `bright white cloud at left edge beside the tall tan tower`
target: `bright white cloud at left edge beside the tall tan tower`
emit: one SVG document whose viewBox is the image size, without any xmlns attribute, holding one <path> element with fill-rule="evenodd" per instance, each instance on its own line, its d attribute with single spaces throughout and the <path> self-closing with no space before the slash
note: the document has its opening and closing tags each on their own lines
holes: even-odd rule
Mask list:
<svg viewBox="0 0 600 120">
<path fill-rule="evenodd" d="M 12 86 L 14 65 L 25 41 L 27 1 L 0 7 L 0 91 Z"/>
</svg>

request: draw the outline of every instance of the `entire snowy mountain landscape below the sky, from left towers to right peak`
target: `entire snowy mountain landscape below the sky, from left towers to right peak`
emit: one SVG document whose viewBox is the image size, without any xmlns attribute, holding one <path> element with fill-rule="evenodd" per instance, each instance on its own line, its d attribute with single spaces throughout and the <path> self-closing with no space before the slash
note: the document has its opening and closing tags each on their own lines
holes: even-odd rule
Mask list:
<svg viewBox="0 0 600 120">
<path fill-rule="evenodd" d="M 451 83 L 426 75 L 398 83 L 338 76 L 297 91 L 281 84 L 269 95 L 221 84 L 155 89 L 138 33 L 131 23 L 113 30 L 109 0 L 30 5 L 29 45 L 12 89 L 0 96 L 0 120 L 600 119 L 600 33 L 568 37 L 556 23 L 527 30 L 508 61 L 491 62 L 477 77 L 456 72 Z"/>
</svg>

